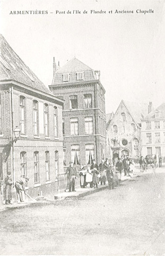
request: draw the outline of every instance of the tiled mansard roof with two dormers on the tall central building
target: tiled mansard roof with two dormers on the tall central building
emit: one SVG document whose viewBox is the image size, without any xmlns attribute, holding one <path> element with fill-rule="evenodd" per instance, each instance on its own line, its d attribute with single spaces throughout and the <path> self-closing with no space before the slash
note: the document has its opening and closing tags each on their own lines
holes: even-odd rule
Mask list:
<svg viewBox="0 0 165 256">
<path fill-rule="evenodd" d="M 83 73 L 83 78 L 77 81 L 77 73 Z M 63 76 L 68 74 L 67 81 L 64 81 Z M 93 81 L 97 80 L 97 76 L 94 73 L 94 70 L 86 66 L 80 60 L 73 58 L 68 61 L 63 67 L 57 70 L 54 74 L 52 85 L 54 84 L 63 84 L 63 83 L 75 83 L 82 81 Z"/>
</svg>

